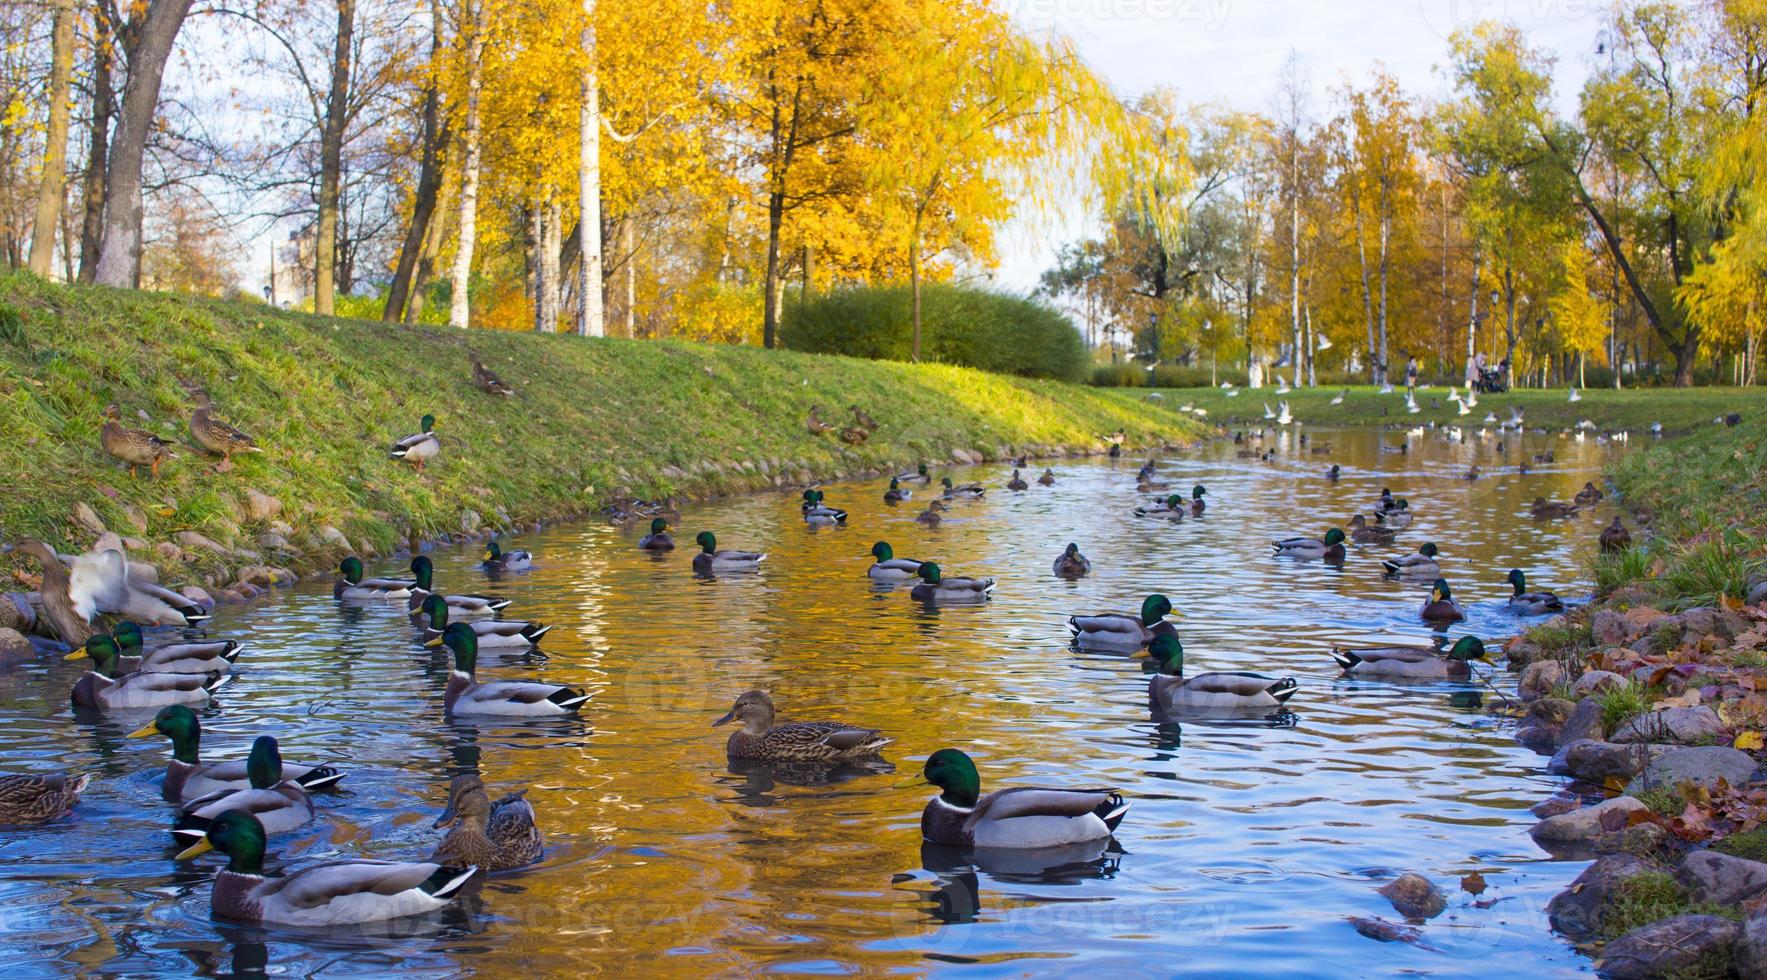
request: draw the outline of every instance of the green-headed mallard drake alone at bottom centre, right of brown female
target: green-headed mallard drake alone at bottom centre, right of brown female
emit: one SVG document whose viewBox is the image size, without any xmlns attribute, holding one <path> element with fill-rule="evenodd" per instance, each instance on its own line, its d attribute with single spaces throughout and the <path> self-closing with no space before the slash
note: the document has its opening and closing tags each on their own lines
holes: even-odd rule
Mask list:
<svg viewBox="0 0 1767 980">
<path fill-rule="evenodd" d="M 921 837 L 951 848 L 1039 849 L 1103 841 L 1129 812 L 1115 789 L 1025 786 L 982 796 L 975 763 L 956 749 L 928 756 L 921 779 L 940 789 L 921 812 Z"/>
</svg>

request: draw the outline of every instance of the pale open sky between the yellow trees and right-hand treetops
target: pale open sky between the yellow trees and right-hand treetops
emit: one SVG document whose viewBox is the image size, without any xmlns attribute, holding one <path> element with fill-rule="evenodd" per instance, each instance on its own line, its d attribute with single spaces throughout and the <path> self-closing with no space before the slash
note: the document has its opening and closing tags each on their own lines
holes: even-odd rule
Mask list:
<svg viewBox="0 0 1767 980">
<path fill-rule="evenodd" d="M 1270 111 L 1276 78 L 1301 55 L 1311 117 L 1331 113 L 1329 90 L 1366 81 L 1378 62 L 1422 97 L 1449 90 L 1442 69 L 1454 30 L 1509 21 L 1558 58 L 1557 101 L 1574 113 L 1596 55 L 1608 0 L 997 0 L 1032 32 L 1060 32 L 1119 95 L 1164 85 L 1182 102 Z M 1088 233 L 1071 210 L 1050 230 L 1012 224 L 1000 237 L 995 283 L 1030 290 L 1055 249 Z"/>
</svg>

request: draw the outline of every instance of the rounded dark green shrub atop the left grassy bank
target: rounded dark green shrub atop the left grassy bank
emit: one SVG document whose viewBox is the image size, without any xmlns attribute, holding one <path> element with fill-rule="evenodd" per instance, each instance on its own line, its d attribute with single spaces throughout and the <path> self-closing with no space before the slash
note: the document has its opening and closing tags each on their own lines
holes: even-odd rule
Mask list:
<svg viewBox="0 0 1767 980">
<path fill-rule="evenodd" d="M 786 304 L 781 337 L 800 351 L 908 360 L 912 309 L 906 286 L 838 290 Z M 1080 332 L 1058 309 L 945 284 L 921 288 L 921 360 L 1064 381 L 1083 380 L 1090 362 Z"/>
</svg>

